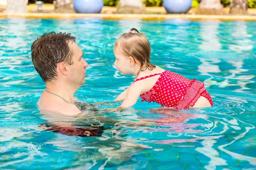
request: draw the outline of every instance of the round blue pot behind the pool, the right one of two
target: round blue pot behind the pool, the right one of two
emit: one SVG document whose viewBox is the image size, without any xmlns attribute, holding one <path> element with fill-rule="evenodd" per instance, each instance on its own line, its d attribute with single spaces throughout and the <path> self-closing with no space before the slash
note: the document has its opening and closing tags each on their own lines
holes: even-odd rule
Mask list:
<svg viewBox="0 0 256 170">
<path fill-rule="evenodd" d="M 189 11 L 192 0 L 163 0 L 163 6 L 167 13 L 182 14 Z"/>
</svg>

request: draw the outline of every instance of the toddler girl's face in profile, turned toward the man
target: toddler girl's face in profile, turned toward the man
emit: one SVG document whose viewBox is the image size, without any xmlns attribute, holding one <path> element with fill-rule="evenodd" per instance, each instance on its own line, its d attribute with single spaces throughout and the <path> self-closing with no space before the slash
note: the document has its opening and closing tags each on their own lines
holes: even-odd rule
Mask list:
<svg viewBox="0 0 256 170">
<path fill-rule="evenodd" d="M 131 72 L 134 70 L 133 67 L 131 68 L 129 57 L 126 57 L 122 55 L 120 46 L 116 46 L 116 50 L 114 50 L 114 55 L 116 57 L 116 61 L 114 62 L 114 65 L 116 65 L 116 68 L 118 71 L 120 71 L 121 74 L 131 74 Z"/>
</svg>

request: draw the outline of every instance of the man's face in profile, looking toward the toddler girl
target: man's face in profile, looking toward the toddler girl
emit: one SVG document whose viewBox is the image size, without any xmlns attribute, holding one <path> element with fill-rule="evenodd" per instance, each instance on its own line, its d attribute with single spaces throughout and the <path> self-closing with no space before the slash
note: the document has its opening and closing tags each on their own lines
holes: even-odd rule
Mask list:
<svg viewBox="0 0 256 170">
<path fill-rule="evenodd" d="M 76 44 L 76 42 L 70 41 L 68 42 L 70 47 L 70 51 L 73 51 L 72 56 L 72 65 L 68 65 L 68 77 L 70 79 L 70 83 L 75 86 L 81 86 L 85 83 L 86 77 L 86 70 L 85 68 L 88 67 L 88 63 L 83 59 L 83 51 L 81 48 Z"/>
</svg>

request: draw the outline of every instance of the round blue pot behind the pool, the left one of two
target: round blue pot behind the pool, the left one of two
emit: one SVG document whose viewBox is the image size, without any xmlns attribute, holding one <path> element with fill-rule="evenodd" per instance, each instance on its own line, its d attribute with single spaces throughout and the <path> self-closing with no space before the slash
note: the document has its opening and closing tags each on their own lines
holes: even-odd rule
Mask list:
<svg viewBox="0 0 256 170">
<path fill-rule="evenodd" d="M 74 8 L 77 13 L 100 13 L 103 0 L 74 0 Z"/>
</svg>

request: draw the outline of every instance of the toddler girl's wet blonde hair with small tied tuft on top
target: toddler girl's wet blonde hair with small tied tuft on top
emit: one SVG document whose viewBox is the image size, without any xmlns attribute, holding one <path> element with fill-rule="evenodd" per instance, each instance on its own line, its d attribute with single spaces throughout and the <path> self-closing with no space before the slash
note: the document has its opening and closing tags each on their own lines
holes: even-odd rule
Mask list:
<svg viewBox="0 0 256 170">
<path fill-rule="evenodd" d="M 136 33 L 132 31 L 136 31 Z M 121 37 L 119 37 L 114 45 L 115 51 L 118 45 L 120 45 L 123 55 L 127 57 L 131 56 L 135 62 L 140 62 L 140 71 L 145 71 L 147 68 L 149 70 L 156 68 L 155 65 L 150 63 L 151 47 L 149 41 L 147 37 L 139 33 L 136 28 L 131 28 L 128 33 L 122 34 Z"/>
</svg>

